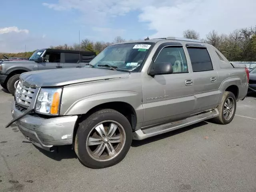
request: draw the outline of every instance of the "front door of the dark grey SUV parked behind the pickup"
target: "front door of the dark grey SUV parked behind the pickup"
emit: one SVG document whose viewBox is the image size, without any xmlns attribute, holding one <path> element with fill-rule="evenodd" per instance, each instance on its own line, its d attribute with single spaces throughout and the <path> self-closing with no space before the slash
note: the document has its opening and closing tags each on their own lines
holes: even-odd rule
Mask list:
<svg viewBox="0 0 256 192">
<path fill-rule="evenodd" d="M 38 63 L 38 70 L 59 68 L 63 68 L 63 63 L 60 62 L 60 52 L 46 52 L 44 62 Z"/>
</svg>

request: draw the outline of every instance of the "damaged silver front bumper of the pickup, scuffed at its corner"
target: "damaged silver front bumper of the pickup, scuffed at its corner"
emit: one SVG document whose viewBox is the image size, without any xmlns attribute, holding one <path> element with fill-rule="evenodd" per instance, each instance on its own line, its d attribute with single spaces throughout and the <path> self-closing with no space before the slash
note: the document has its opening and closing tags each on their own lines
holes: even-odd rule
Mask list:
<svg viewBox="0 0 256 192">
<path fill-rule="evenodd" d="M 12 117 L 15 119 L 23 112 L 12 104 Z M 41 118 L 34 114 L 26 114 L 15 123 L 20 132 L 34 145 L 48 151 L 54 146 L 72 144 L 73 131 L 78 116 L 62 116 L 57 118 Z"/>
</svg>

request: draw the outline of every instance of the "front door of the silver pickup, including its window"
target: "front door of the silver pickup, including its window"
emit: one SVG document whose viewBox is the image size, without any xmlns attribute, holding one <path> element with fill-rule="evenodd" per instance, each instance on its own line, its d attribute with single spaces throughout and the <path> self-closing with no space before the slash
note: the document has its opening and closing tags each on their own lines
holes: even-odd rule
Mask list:
<svg viewBox="0 0 256 192">
<path fill-rule="evenodd" d="M 156 55 L 154 62 L 171 63 L 173 73 L 155 76 L 146 74 L 142 78 L 143 126 L 184 118 L 192 114 L 194 108 L 192 73 L 189 72 L 182 45 L 162 44 Z"/>
</svg>

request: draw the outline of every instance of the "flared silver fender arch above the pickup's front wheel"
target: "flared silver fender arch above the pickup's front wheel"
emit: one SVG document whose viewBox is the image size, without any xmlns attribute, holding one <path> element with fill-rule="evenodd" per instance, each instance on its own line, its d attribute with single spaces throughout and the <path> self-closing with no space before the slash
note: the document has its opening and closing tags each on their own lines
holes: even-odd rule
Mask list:
<svg viewBox="0 0 256 192">
<path fill-rule="evenodd" d="M 64 115 L 86 114 L 92 108 L 100 104 L 106 104 L 110 102 L 124 102 L 129 104 L 134 109 L 137 122 L 143 121 L 143 106 L 141 103 L 140 94 L 132 91 L 103 92 L 100 94 L 86 96 L 74 102 L 68 108 L 68 110 L 66 110 Z"/>
</svg>

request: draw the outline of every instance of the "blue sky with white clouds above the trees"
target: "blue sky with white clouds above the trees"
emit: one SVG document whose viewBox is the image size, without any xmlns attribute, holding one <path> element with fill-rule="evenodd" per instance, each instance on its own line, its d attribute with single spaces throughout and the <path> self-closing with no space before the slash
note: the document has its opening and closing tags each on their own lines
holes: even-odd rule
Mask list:
<svg viewBox="0 0 256 192">
<path fill-rule="evenodd" d="M 88 38 L 112 42 L 182 37 L 194 29 L 229 34 L 256 26 L 256 0 L 8 0 L 1 2 L 0 52 L 24 52 Z"/>
</svg>

